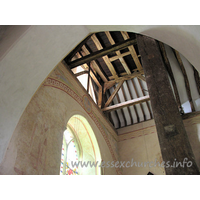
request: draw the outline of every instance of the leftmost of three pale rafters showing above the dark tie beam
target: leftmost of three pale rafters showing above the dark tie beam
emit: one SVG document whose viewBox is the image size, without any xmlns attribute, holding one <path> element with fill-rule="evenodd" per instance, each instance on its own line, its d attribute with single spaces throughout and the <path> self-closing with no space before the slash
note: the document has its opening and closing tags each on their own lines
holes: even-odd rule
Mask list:
<svg viewBox="0 0 200 200">
<path fill-rule="evenodd" d="M 91 36 L 91 39 L 93 40 L 94 44 L 96 45 L 98 50 L 102 50 L 103 47 L 101 45 L 101 43 L 99 42 L 99 40 L 97 39 L 96 35 L 93 34 Z M 104 62 L 106 63 L 106 65 L 108 66 L 108 69 L 110 70 L 111 74 L 114 76 L 114 78 L 117 78 L 118 75 L 115 71 L 115 68 L 113 67 L 112 63 L 110 62 L 109 58 L 107 55 L 103 56 L 102 59 L 104 60 Z"/>
</svg>

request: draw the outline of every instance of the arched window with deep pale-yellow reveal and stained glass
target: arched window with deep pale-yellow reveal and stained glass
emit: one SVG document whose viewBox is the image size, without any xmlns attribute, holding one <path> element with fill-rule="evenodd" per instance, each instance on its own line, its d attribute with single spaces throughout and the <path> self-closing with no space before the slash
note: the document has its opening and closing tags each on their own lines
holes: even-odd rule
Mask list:
<svg viewBox="0 0 200 200">
<path fill-rule="evenodd" d="M 100 175 L 101 156 L 94 132 L 81 115 L 74 115 L 63 133 L 61 175 Z"/>
</svg>

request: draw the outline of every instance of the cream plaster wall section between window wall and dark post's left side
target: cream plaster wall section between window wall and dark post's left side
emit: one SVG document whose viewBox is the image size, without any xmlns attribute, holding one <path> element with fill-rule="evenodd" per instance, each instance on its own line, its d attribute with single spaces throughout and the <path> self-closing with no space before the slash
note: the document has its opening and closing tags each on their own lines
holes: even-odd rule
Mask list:
<svg viewBox="0 0 200 200">
<path fill-rule="evenodd" d="M 148 172 L 156 175 L 165 174 L 165 169 L 159 166 L 163 159 L 154 120 L 127 126 L 117 131 L 120 161 L 130 162 L 128 167 L 123 167 L 124 175 L 146 175 Z"/>
</svg>

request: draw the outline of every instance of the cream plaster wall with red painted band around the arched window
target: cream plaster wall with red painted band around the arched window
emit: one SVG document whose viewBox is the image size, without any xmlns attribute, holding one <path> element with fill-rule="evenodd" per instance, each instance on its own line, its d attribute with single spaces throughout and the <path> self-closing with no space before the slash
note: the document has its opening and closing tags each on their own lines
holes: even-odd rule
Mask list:
<svg viewBox="0 0 200 200">
<path fill-rule="evenodd" d="M 0 174 L 58 175 L 63 132 L 67 122 L 77 114 L 89 122 L 101 159 L 105 162 L 119 160 L 116 131 L 75 81 L 72 72 L 59 64 L 23 112 L 0 165 Z M 121 171 L 104 168 L 103 173 L 116 175 Z"/>
</svg>

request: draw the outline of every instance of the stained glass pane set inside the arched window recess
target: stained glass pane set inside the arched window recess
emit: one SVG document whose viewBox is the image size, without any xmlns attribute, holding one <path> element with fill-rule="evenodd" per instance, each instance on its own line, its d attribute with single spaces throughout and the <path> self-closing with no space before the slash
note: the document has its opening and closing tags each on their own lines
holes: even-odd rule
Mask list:
<svg viewBox="0 0 200 200">
<path fill-rule="evenodd" d="M 73 163 L 78 162 L 79 148 L 76 138 L 69 130 L 65 130 L 63 133 L 63 144 L 61 151 L 61 175 L 78 175 L 78 167 Z M 73 162 L 73 163 L 72 163 Z"/>
</svg>

